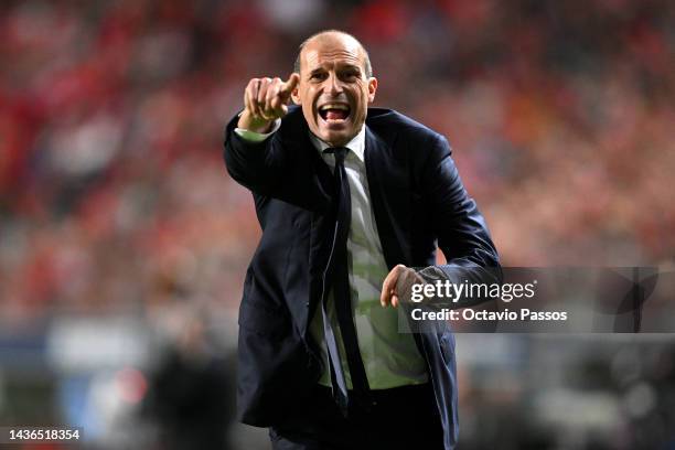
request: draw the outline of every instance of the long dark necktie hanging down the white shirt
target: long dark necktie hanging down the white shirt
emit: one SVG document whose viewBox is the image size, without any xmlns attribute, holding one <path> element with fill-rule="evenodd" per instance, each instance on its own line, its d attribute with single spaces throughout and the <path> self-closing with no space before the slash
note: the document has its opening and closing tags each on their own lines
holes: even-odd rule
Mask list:
<svg viewBox="0 0 675 450">
<path fill-rule="evenodd" d="M 331 383 L 333 386 L 333 396 L 338 406 L 346 416 L 347 405 L 350 401 L 357 401 L 361 406 L 367 407 L 371 400 L 371 390 L 368 379 L 366 377 L 361 351 L 358 350 L 358 341 L 356 339 L 356 328 L 354 326 L 354 318 L 352 315 L 352 296 L 350 288 L 349 262 L 346 243 L 350 234 L 352 222 L 352 201 L 350 196 L 350 182 L 344 169 L 344 159 L 349 149 L 343 147 L 329 148 L 324 152 L 332 152 L 335 156 L 334 174 L 334 212 L 335 212 L 335 228 L 333 233 L 333 242 L 331 254 L 329 257 L 328 275 L 333 289 L 333 300 L 335 306 L 335 315 L 342 335 L 342 342 L 346 353 L 346 362 L 350 367 L 352 378 L 353 396 L 356 398 L 350 399 L 350 394 L 346 389 L 342 365 L 340 363 L 340 352 L 336 344 L 335 333 L 330 323 L 326 300 L 328 296 L 324 292 L 322 299 L 323 314 L 323 331 L 325 335 L 326 347 L 329 351 L 329 363 L 331 368 Z"/>
</svg>

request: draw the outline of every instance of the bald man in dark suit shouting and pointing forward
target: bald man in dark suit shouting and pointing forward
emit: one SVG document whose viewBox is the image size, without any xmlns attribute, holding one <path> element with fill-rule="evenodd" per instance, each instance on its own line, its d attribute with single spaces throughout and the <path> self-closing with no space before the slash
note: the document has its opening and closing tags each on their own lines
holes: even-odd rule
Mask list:
<svg viewBox="0 0 675 450">
<path fill-rule="evenodd" d="M 457 442 L 452 332 L 403 332 L 390 307 L 413 267 L 453 280 L 499 258 L 446 139 L 368 108 L 376 90 L 361 43 L 326 31 L 288 81 L 253 78 L 227 126 L 227 170 L 262 228 L 239 310 L 238 413 L 270 427 L 275 449 Z"/>
</svg>

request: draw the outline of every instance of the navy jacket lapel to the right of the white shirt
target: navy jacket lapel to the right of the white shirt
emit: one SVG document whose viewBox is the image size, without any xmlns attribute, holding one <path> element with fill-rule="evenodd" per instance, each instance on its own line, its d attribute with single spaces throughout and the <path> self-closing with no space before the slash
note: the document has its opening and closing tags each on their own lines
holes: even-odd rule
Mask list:
<svg viewBox="0 0 675 450">
<path fill-rule="evenodd" d="M 405 157 L 404 153 L 399 153 Z M 375 223 L 389 269 L 410 265 L 409 178 L 405 161 L 366 127 L 365 164 Z"/>
</svg>

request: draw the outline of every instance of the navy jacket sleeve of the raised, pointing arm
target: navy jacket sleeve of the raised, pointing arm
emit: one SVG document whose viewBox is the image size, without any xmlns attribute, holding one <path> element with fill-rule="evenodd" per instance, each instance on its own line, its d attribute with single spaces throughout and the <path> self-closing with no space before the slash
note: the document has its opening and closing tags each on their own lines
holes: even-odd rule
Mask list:
<svg viewBox="0 0 675 450">
<path fill-rule="evenodd" d="M 235 116 L 225 129 L 225 167 L 229 175 L 239 184 L 260 195 L 276 192 L 287 158 L 278 139 L 278 132 L 261 142 L 243 139 L 234 130 L 238 117 Z"/>
</svg>

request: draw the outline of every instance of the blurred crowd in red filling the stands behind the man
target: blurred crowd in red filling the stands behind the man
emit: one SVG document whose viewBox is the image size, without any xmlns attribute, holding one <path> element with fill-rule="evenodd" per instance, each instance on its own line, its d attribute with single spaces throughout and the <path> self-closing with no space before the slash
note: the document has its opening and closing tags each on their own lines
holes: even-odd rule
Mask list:
<svg viewBox="0 0 675 450">
<path fill-rule="evenodd" d="M 222 163 L 248 78 L 340 28 L 376 106 L 448 137 L 508 266 L 672 265 L 667 0 L 3 1 L 0 321 L 236 308 L 259 237 Z"/>
</svg>

